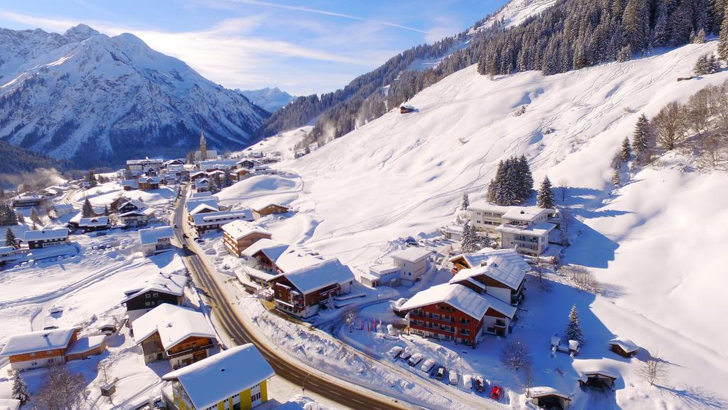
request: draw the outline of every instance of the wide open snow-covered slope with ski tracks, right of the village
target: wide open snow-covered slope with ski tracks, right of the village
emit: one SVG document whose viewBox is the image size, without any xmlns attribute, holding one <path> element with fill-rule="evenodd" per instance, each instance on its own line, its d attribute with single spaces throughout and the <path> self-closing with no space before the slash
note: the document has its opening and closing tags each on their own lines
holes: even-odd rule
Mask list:
<svg viewBox="0 0 728 410">
<path fill-rule="evenodd" d="M 580 307 L 590 323 L 590 346 L 601 351 L 612 337 L 627 337 L 673 363 L 668 390 L 651 390 L 628 363 L 604 360 L 625 378 L 618 406 L 687 409 L 703 400 L 705 408 L 721 408 L 728 400 L 728 333 L 718 323 L 728 302 L 719 248 L 728 197 L 720 187 L 728 176 L 695 171 L 690 158 L 675 153 L 619 190 L 610 184 L 612 155 L 641 112 L 653 116 L 669 101 L 728 79 L 723 71 L 676 82 L 715 47 L 687 45 L 549 77 L 526 71 L 489 80 L 470 66 L 414 96 L 417 112 L 387 112 L 281 163 L 300 175 L 299 183 L 251 179 L 240 189 L 280 185 L 269 198 L 298 213 L 274 234 L 363 270 L 386 260 L 390 241 L 430 236 L 451 223 L 462 193 L 481 200 L 498 161 L 525 154 L 537 181 L 545 175 L 555 184 L 567 181 L 561 205 L 576 219 L 563 263 L 587 266 L 609 290 Z M 516 116 L 523 105 L 525 113 Z M 553 132 L 545 134 L 547 128 Z M 237 186 L 229 190 L 222 195 L 241 197 L 232 193 Z M 555 322 L 560 331 L 561 317 Z M 596 359 L 586 355 L 574 367 Z"/>
</svg>

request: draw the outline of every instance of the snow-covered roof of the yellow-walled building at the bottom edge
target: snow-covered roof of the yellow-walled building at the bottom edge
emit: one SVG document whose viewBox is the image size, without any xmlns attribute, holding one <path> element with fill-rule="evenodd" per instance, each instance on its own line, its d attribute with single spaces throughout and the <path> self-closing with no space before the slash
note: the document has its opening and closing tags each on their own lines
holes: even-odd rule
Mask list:
<svg viewBox="0 0 728 410">
<path fill-rule="evenodd" d="M 167 373 L 162 379 L 178 380 L 194 407 L 207 409 L 274 375 L 261 352 L 248 343 Z"/>
</svg>

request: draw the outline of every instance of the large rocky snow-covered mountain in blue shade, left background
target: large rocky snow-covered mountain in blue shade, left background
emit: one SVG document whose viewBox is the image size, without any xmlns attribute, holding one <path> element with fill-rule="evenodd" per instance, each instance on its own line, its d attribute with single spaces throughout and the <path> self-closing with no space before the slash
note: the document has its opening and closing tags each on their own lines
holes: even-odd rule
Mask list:
<svg viewBox="0 0 728 410">
<path fill-rule="evenodd" d="M 0 29 L 0 139 L 79 166 L 242 147 L 268 113 L 132 34 Z"/>
</svg>

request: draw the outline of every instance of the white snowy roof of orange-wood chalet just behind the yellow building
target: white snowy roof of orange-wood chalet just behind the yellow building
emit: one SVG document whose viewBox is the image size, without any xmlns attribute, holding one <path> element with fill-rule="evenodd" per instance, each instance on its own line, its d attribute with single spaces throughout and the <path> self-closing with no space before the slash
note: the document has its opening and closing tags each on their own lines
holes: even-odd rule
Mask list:
<svg viewBox="0 0 728 410">
<path fill-rule="evenodd" d="M 170 303 L 162 303 L 146 312 L 132 322 L 132 328 L 137 344 L 158 332 L 165 350 L 191 336 L 216 338 L 215 331 L 204 314 Z"/>
</svg>

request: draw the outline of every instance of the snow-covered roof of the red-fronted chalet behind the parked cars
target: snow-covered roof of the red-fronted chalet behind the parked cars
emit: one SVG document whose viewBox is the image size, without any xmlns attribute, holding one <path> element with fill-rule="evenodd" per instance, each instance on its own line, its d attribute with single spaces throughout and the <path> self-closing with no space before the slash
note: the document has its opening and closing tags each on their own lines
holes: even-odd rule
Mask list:
<svg viewBox="0 0 728 410">
<path fill-rule="evenodd" d="M 483 318 L 488 312 L 488 307 L 491 306 L 488 299 L 483 298 L 483 295 L 471 290 L 469 287 L 443 283 L 416 293 L 410 300 L 400 306 L 400 310 L 417 309 L 435 303 L 447 303 L 477 320 Z"/>
</svg>

